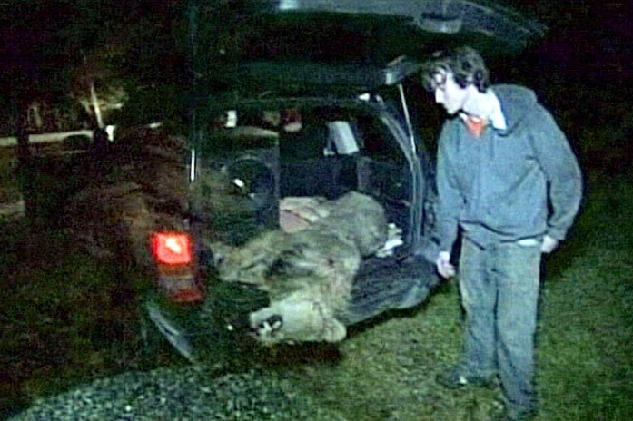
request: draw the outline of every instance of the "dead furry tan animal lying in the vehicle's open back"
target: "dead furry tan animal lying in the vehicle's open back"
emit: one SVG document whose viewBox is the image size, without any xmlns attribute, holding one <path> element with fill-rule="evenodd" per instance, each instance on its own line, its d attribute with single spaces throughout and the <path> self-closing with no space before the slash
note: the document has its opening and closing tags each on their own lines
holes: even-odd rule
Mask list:
<svg viewBox="0 0 633 421">
<path fill-rule="evenodd" d="M 219 265 L 220 279 L 269 293 L 270 306 L 250 315 L 263 344 L 340 341 L 347 330 L 335 314 L 347 306 L 361 259 L 387 240 L 384 210 L 352 191 L 334 201 L 292 198 L 281 211 L 282 228 L 289 212 L 292 229 L 264 232 L 232 250 Z"/>
</svg>

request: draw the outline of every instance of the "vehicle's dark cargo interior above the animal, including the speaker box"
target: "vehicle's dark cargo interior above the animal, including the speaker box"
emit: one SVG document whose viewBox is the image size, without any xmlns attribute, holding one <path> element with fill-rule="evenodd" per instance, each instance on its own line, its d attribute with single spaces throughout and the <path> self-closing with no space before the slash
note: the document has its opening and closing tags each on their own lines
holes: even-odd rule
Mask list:
<svg viewBox="0 0 633 421">
<path fill-rule="evenodd" d="M 331 105 L 225 115 L 218 131 L 222 139 L 201 153 L 206 161 L 201 159 L 207 162 L 204 167 L 229 175 L 240 211 L 245 203 L 252 207 L 251 226 L 259 226 L 254 230 L 279 226 L 274 198 L 335 200 L 357 191 L 381 203 L 388 222 L 401 230 L 401 239 L 410 234 L 410 167 L 375 115 Z M 233 136 L 231 142 L 226 136 Z M 220 152 L 220 147 L 227 151 Z M 229 236 L 240 240 L 230 242 L 246 239 L 246 230 L 241 230 Z"/>
</svg>

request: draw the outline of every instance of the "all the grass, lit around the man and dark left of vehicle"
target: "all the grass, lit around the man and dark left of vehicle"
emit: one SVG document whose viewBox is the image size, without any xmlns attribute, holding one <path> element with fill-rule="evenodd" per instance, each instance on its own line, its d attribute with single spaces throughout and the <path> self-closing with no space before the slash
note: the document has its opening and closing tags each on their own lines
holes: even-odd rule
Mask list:
<svg viewBox="0 0 633 421">
<path fill-rule="evenodd" d="M 587 184 L 569 240 L 545 262 L 539 421 L 633 419 L 633 181 L 592 175 Z M 133 289 L 119 269 L 88 259 L 61 231 L 2 225 L 0 415 L 153 367 L 144 365 Z M 461 329 L 457 290 L 447 283 L 421 308 L 351 328 L 331 357 L 308 348 L 262 367 L 344 419 L 485 420 L 499 411 L 499 390 L 454 392 L 435 382 L 460 357 Z"/>
</svg>

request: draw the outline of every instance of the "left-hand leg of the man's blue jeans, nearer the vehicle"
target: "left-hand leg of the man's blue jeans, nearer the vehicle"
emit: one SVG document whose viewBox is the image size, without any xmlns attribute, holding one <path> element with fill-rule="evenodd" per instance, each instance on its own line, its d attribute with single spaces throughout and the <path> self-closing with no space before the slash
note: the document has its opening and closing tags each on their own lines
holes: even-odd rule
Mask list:
<svg viewBox="0 0 633 421">
<path fill-rule="evenodd" d="M 495 373 L 496 286 L 489 274 L 490 252 L 464 239 L 460 254 L 461 304 L 466 313 L 463 368 L 489 377 Z"/>
</svg>

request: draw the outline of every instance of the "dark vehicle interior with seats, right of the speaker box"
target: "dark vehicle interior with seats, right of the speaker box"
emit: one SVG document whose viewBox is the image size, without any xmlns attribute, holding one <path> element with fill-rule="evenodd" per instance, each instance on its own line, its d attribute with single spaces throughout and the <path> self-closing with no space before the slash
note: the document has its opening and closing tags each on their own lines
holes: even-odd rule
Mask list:
<svg viewBox="0 0 633 421">
<path fill-rule="evenodd" d="M 336 199 L 359 191 L 379 201 L 391 223 L 408 229 L 409 165 L 393 135 L 374 116 L 313 110 L 301 130 L 280 133 L 279 145 L 282 198 Z"/>
</svg>

